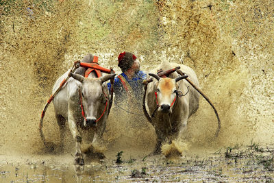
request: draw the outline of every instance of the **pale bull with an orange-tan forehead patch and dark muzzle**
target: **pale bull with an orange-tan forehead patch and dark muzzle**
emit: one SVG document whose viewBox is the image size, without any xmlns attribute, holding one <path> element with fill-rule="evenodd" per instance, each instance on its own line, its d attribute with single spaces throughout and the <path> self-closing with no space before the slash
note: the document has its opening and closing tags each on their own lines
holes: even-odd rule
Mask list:
<svg viewBox="0 0 274 183">
<path fill-rule="evenodd" d="M 180 70 L 199 87 L 197 75 L 186 65 L 162 62 L 157 70 L 166 71 L 176 66 L 180 66 Z M 157 73 L 157 70 L 151 73 Z M 153 76 L 153 82 L 147 86 L 145 102 L 158 137 L 154 154 L 159 154 L 164 141 L 171 143 L 186 130 L 188 118 L 199 107 L 199 93 L 184 80 L 186 76 L 178 77 L 177 73 L 171 73 L 169 77 L 149 75 Z"/>
</svg>

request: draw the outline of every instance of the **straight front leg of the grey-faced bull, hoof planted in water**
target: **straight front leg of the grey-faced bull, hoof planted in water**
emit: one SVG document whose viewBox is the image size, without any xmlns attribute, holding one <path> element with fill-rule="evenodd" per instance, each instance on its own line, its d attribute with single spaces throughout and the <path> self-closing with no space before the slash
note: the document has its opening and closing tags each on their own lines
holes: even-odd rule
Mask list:
<svg viewBox="0 0 274 183">
<path fill-rule="evenodd" d="M 73 135 L 73 139 L 75 140 L 75 160 L 74 165 L 76 166 L 76 170 L 80 170 L 82 166 L 84 166 L 84 158 L 82 151 L 80 149 L 80 145 L 82 143 L 82 135 L 79 133 L 77 129 L 77 125 L 75 122 L 75 118 L 73 114 L 69 114 L 69 129 L 71 130 L 71 134 Z"/>
</svg>

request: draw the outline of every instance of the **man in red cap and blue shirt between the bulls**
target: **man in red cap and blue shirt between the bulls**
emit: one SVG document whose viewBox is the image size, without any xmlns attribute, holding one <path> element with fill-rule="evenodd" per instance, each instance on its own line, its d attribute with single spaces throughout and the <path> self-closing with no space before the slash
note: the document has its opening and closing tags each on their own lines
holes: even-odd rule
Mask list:
<svg viewBox="0 0 274 183">
<path fill-rule="evenodd" d="M 118 107 L 127 105 L 127 107 L 135 106 L 135 109 L 140 109 L 144 95 L 142 81 L 147 78 L 147 75 L 140 71 L 140 62 L 132 53 L 120 53 L 118 62 L 123 73 L 114 79 L 114 104 Z M 110 89 L 110 83 L 108 88 Z"/>
</svg>

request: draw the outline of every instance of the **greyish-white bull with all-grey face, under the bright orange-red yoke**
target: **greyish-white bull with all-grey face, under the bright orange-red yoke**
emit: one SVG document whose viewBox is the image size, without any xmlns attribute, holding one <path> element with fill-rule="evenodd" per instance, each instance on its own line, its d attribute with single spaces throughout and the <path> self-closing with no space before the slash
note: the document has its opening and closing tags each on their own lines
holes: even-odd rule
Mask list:
<svg viewBox="0 0 274 183">
<path fill-rule="evenodd" d="M 110 103 L 108 86 L 104 82 L 110 80 L 115 74 L 96 78 L 93 72 L 88 77 L 83 77 L 67 71 L 55 82 L 53 93 L 68 74 L 72 77 L 55 95 L 53 105 L 60 127 L 61 147 L 64 147 L 65 122 L 69 121 L 69 129 L 76 141 L 74 164 L 79 168 L 84 165 L 83 153 L 97 153 L 92 148 L 92 144 L 97 143 L 105 131 Z M 89 145 L 88 148 L 84 148 L 86 144 Z M 103 154 L 99 156 L 103 157 Z"/>
</svg>

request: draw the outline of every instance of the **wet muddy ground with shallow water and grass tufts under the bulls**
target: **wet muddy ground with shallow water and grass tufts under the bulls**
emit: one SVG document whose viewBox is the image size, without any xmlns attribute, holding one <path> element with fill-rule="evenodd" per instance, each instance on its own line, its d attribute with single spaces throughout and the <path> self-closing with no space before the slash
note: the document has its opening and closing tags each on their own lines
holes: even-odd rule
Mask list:
<svg viewBox="0 0 274 183">
<path fill-rule="evenodd" d="M 0 182 L 273 182 L 274 145 L 225 147 L 183 156 L 124 157 L 117 152 L 92 160 L 77 175 L 71 154 L 2 156 Z M 183 153 L 184 154 L 184 153 Z"/>
</svg>

